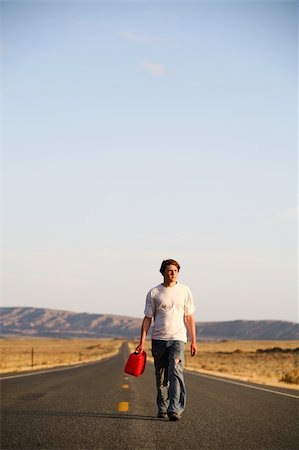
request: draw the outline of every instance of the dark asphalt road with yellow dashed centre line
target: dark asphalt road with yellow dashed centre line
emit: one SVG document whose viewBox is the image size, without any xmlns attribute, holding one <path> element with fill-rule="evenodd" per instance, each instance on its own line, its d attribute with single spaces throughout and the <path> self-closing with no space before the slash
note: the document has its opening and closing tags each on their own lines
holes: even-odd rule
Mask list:
<svg viewBox="0 0 299 450">
<path fill-rule="evenodd" d="M 1 449 L 299 449 L 298 392 L 186 373 L 186 411 L 169 422 L 152 364 L 127 377 L 127 356 L 2 378 Z"/>
</svg>

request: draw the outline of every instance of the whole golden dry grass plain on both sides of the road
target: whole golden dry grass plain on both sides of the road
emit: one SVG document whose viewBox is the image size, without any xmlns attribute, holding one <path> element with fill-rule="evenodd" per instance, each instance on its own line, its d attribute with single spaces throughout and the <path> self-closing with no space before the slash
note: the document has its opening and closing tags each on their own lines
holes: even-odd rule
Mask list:
<svg viewBox="0 0 299 450">
<path fill-rule="evenodd" d="M 100 360 L 116 354 L 121 339 L 0 340 L 0 373 L 22 372 Z M 130 342 L 133 351 L 138 342 Z M 186 369 L 269 386 L 299 390 L 299 341 L 198 342 L 191 358 L 186 346 Z M 151 359 L 151 342 L 146 342 Z M 32 366 L 33 349 L 33 366 Z"/>
</svg>

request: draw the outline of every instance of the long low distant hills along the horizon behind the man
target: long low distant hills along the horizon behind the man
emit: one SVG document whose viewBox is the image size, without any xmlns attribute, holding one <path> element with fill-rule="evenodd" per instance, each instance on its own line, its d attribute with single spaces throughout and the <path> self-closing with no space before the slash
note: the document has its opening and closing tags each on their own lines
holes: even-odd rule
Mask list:
<svg viewBox="0 0 299 450">
<path fill-rule="evenodd" d="M 0 336 L 59 338 L 135 338 L 142 319 L 44 308 L 0 308 Z M 197 322 L 200 340 L 293 340 L 299 324 L 277 320 Z"/>
</svg>

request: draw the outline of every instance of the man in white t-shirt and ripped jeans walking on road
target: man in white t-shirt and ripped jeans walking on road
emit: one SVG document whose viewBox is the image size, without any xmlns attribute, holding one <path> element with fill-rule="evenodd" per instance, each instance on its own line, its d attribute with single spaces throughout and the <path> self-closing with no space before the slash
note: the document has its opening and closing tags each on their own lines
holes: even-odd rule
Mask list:
<svg viewBox="0 0 299 450">
<path fill-rule="evenodd" d="M 186 404 L 184 382 L 184 350 L 187 331 L 191 340 L 191 356 L 197 351 L 194 305 L 190 289 L 177 282 L 180 265 L 174 259 L 162 262 L 160 273 L 164 282 L 149 291 L 146 297 L 140 343 L 142 352 L 152 318 L 152 354 L 155 362 L 158 417 L 176 421 Z"/>
</svg>

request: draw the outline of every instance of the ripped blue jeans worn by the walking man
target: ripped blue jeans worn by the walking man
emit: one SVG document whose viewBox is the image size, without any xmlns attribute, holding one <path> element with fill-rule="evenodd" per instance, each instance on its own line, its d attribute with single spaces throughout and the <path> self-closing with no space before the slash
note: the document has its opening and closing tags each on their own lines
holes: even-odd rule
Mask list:
<svg viewBox="0 0 299 450">
<path fill-rule="evenodd" d="M 158 411 L 182 414 L 185 409 L 184 350 L 183 341 L 152 340 Z"/>
</svg>

